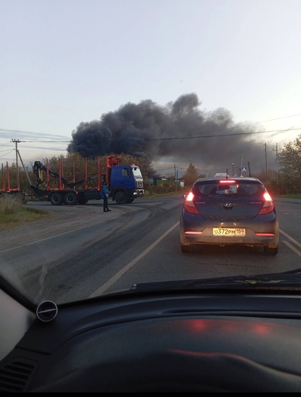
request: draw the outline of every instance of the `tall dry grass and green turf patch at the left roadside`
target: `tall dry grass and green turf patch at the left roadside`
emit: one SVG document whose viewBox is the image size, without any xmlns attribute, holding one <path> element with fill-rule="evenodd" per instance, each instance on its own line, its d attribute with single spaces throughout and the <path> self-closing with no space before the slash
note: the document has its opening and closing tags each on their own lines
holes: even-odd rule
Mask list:
<svg viewBox="0 0 301 397">
<path fill-rule="evenodd" d="M 48 216 L 48 211 L 25 207 L 17 196 L 0 195 L 0 230 Z"/>
</svg>

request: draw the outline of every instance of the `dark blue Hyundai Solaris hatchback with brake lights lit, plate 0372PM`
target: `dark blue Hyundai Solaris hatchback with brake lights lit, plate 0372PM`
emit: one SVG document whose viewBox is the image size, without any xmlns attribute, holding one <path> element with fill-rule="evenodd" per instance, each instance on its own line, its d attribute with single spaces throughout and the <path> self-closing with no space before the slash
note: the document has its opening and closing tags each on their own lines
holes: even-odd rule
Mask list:
<svg viewBox="0 0 301 397">
<path fill-rule="evenodd" d="M 195 244 L 262 246 L 278 253 L 274 202 L 256 178 L 202 178 L 185 198 L 180 219 L 181 250 Z"/>
</svg>

